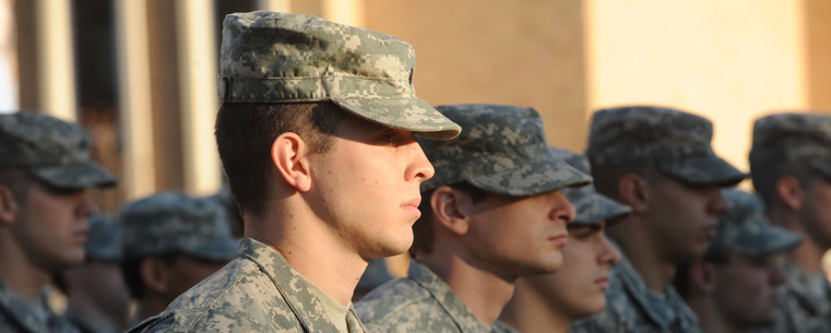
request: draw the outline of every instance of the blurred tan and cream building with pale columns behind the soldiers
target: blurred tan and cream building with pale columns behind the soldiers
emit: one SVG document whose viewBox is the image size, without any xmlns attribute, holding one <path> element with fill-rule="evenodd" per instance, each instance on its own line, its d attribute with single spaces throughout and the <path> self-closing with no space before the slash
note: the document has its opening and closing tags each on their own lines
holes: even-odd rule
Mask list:
<svg viewBox="0 0 831 333">
<path fill-rule="evenodd" d="M 747 169 L 756 118 L 831 110 L 826 0 L 0 0 L 0 111 L 85 127 L 121 179 L 95 193 L 106 212 L 213 193 L 222 19 L 258 9 L 407 40 L 420 98 L 534 107 L 573 151 L 594 110 L 653 104 L 710 118 L 716 152 Z"/>
</svg>

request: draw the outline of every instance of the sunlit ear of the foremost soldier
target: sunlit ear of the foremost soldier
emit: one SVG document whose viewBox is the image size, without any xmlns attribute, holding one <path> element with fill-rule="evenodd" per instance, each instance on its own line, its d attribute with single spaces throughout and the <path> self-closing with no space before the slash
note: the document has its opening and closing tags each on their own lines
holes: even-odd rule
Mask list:
<svg viewBox="0 0 831 333">
<path fill-rule="evenodd" d="M 280 134 L 271 144 L 271 160 L 289 186 L 306 192 L 311 188 L 311 173 L 307 158 L 308 145 L 293 132 Z"/>
</svg>

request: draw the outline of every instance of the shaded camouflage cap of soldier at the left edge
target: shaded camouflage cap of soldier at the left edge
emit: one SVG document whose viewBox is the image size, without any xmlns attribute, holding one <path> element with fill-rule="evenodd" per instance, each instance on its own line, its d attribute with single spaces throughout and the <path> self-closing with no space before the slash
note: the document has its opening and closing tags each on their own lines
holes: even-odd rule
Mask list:
<svg viewBox="0 0 831 333">
<path fill-rule="evenodd" d="M 110 187 L 116 178 L 90 157 L 78 124 L 35 112 L 0 115 L 0 168 L 21 168 L 61 189 Z"/>
</svg>

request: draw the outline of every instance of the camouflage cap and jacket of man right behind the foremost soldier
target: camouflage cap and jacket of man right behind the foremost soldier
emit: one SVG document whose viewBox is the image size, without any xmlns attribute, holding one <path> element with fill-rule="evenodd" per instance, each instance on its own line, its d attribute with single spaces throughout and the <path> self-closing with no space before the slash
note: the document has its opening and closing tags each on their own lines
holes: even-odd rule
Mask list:
<svg viewBox="0 0 831 333">
<path fill-rule="evenodd" d="M 452 105 L 437 109 L 465 131 L 449 141 L 419 140 L 436 167 L 436 175 L 422 183 L 422 192 L 466 181 L 491 193 L 530 197 L 591 181 L 554 157 L 545 141 L 543 119 L 532 108 Z M 356 308 L 370 332 L 510 330 L 479 321 L 450 286 L 416 261 L 411 262 L 406 278 L 376 288 Z"/>
</svg>

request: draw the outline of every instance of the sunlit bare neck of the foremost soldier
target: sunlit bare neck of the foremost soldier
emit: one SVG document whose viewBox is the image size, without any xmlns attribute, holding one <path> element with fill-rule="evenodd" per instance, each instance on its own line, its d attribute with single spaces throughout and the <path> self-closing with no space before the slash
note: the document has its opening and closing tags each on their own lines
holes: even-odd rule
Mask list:
<svg viewBox="0 0 831 333">
<path fill-rule="evenodd" d="M 269 245 L 300 275 L 339 304 L 348 305 L 368 261 L 325 222 L 296 207 L 282 205 L 275 210 L 278 213 L 264 218 L 246 216 L 246 236 Z"/>
</svg>

